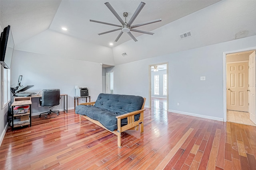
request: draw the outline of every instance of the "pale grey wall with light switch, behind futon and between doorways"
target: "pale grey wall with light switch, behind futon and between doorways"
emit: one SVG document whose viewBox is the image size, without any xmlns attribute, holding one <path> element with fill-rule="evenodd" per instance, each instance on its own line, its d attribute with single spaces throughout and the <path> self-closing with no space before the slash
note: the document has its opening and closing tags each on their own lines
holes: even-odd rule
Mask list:
<svg viewBox="0 0 256 170">
<path fill-rule="evenodd" d="M 115 93 L 148 98 L 149 65 L 168 62 L 169 111 L 223 120 L 223 52 L 249 47 L 256 36 L 114 66 Z"/>
</svg>

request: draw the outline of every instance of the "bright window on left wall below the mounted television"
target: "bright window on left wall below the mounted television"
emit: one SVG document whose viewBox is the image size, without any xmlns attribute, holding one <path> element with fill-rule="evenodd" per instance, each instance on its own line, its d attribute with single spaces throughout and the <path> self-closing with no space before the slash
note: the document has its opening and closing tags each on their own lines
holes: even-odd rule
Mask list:
<svg viewBox="0 0 256 170">
<path fill-rule="evenodd" d="M 2 66 L 2 108 L 4 108 L 11 99 L 10 94 L 10 69 Z"/>
</svg>

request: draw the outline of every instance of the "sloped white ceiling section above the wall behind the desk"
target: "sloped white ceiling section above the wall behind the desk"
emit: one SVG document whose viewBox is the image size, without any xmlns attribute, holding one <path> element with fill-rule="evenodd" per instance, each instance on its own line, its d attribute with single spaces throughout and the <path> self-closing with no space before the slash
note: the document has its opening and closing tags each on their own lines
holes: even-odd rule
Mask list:
<svg viewBox="0 0 256 170">
<path fill-rule="evenodd" d="M 61 57 L 61 59 L 114 65 L 111 48 L 95 45 L 49 29 L 23 43 L 15 45 L 15 49 Z"/>
</svg>

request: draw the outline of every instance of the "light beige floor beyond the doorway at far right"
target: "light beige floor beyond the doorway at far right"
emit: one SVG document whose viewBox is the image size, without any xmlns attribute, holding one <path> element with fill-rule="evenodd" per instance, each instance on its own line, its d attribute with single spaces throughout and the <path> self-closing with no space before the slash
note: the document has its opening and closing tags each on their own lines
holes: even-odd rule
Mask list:
<svg viewBox="0 0 256 170">
<path fill-rule="evenodd" d="M 256 126 L 251 120 L 248 112 L 227 110 L 227 121 Z"/>
</svg>

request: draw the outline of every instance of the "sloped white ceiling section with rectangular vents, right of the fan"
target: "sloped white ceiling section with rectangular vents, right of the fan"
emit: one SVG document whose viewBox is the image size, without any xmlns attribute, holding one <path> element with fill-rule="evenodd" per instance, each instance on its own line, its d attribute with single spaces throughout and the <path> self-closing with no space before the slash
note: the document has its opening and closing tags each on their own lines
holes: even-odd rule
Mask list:
<svg viewBox="0 0 256 170">
<path fill-rule="evenodd" d="M 144 34 L 136 37 L 137 42 L 130 40 L 113 47 L 115 64 L 168 55 L 256 35 L 255 6 L 255 0 L 222 0 L 152 30 L 154 35 Z M 169 15 L 175 14 L 170 12 Z M 191 31 L 192 36 L 180 39 L 180 34 L 187 31 Z M 124 52 L 128 56 L 122 57 L 121 53 Z"/>
</svg>

